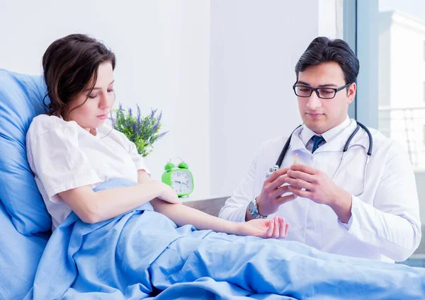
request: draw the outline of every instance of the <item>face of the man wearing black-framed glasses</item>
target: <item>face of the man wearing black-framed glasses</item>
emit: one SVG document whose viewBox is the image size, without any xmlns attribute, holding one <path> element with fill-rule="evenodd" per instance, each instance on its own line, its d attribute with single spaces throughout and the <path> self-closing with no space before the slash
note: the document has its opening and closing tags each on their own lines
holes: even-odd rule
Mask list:
<svg viewBox="0 0 425 300">
<path fill-rule="evenodd" d="M 324 62 L 300 71 L 296 84 L 311 88 L 340 88 L 345 86 L 346 82 L 339 64 Z M 321 96 L 325 96 L 324 93 L 321 93 Z M 327 132 L 344 122 L 348 105 L 353 102 L 355 96 L 356 83 L 336 92 L 335 97 L 331 99 L 319 98 L 315 91 L 307 98 L 297 96 L 302 122 L 317 134 Z"/>
</svg>

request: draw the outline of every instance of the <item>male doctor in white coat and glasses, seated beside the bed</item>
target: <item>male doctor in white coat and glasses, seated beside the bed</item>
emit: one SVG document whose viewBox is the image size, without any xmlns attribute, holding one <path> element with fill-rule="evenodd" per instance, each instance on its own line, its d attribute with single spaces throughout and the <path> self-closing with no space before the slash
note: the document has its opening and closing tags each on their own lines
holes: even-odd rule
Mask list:
<svg viewBox="0 0 425 300">
<path fill-rule="evenodd" d="M 375 129 L 356 130 L 348 105 L 356 96 L 359 62 L 343 40 L 317 37 L 295 67 L 293 86 L 304 124 L 262 144 L 248 173 L 220 211 L 232 221 L 284 217 L 287 240 L 341 255 L 403 261 L 421 240 L 419 200 L 407 153 Z M 294 163 L 297 154 L 297 163 Z M 334 178 L 334 175 L 336 174 Z M 334 178 L 334 180 L 333 180 Z"/>
</svg>

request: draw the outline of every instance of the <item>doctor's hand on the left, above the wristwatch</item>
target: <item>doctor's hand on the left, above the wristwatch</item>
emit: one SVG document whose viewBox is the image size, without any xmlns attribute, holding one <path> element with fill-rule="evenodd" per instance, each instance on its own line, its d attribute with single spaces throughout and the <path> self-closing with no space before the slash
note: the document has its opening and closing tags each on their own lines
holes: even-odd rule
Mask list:
<svg viewBox="0 0 425 300">
<path fill-rule="evenodd" d="M 276 172 L 273 172 L 266 180 L 264 180 L 263 188 L 256 202 L 259 207 L 259 214 L 262 216 L 268 216 L 278 211 L 280 205 L 290 202 L 296 198 L 294 194 L 283 195 L 288 192 L 289 185 L 284 185 L 288 175 L 289 168 L 281 168 Z M 296 188 L 294 188 L 295 190 Z"/>
</svg>

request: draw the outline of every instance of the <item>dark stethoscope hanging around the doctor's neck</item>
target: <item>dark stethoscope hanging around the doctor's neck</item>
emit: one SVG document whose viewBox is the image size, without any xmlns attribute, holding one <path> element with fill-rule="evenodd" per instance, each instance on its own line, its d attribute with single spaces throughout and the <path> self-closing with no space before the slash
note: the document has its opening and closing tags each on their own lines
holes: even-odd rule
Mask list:
<svg viewBox="0 0 425 300">
<path fill-rule="evenodd" d="M 290 134 L 290 136 L 288 137 L 288 140 L 285 143 L 285 146 L 283 146 L 283 149 L 280 152 L 278 161 L 276 161 L 276 165 L 268 169 L 267 174 L 266 174 L 266 178 L 268 178 L 268 176 L 270 176 L 273 172 L 278 171 L 278 169 L 280 168 L 280 166 L 282 166 L 283 158 L 285 158 L 285 154 L 288 151 L 288 148 L 289 148 L 289 145 L 290 145 L 290 139 L 293 136 L 295 130 L 297 130 L 301 126 L 302 125 L 300 125 L 297 128 L 295 128 L 294 131 Z M 353 137 L 357 134 L 357 132 L 360 129 L 360 127 L 366 132 L 366 134 L 368 134 L 369 148 L 368 148 L 368 151 L 366 152 L 366 154 L 367 154 L 368 157 L 366 158 L 365 170 L 364 170 L 364 173 L 363 173 L 363 189 L 356 196 L 362 195 L 363 192 L 365 191 L 366 173 L 368 172 L 368 165 L 369 165 L 369 161 L 370 161 L 370 156 L 372 156 L 372 149 L 373 149 L 372 134 L 370 134 L 369 129 L 367 127 L 365 127 L 365 125 L 361 124 L 361 122 L 357 122 L 356 129 L 354 129 L 353 133 L 351 133 L 350 137 L 348 137 L 347 142 L 344 145 L 344 149 L 342 150 L 341 162 L 339 163 L 338 169 L 336 170 L 336 173 L 335 173 L 334 177 L 332 178 L 332 181 L 334 181 L 335 178 L 336 178 L 336 175 L 338 175 L 338 173 L 339 173 L 339 170 L 341 170 L 341 166 L 344 163 L 344 158 L 346 156 L 346 153 L 347 153 L 348 149 L 351 149 L 351 148 L 353 148 L 355 146 L 361 146 L 361 147 L 363 147 L 362 145 L 353 145 L 353 146 L 350 147 L 351 139 L 353 139 Z M 363 147 L 363 148 L 365 148 L 365 147 Z M 342 188 L 344 188 L 344 187 L 342 187 Z"/>
</svg>

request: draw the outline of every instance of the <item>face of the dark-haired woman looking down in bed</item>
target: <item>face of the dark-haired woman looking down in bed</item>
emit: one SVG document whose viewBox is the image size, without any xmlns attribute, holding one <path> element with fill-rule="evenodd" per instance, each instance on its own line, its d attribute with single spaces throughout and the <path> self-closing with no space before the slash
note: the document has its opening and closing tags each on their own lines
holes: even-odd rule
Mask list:
<svg viewBox="0 0 425 300">
<path fill-rule="evenodd" d="M 92 86 L 90 83 L 89 86 Z M 69 103 L 69 111 L 78 105 L 80 108 L 72 110 L 68 119 L 74 120 L 78 125 L 90 131 L 100 127 L 112 109 L 115 95 L 113 93 L 112 64 L 105 62 L 98 67 L 98 77 L 93 91 L 82 91 L 77 98 Z"/>
</svg>

